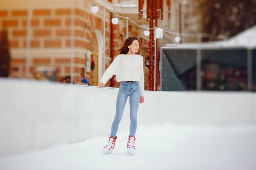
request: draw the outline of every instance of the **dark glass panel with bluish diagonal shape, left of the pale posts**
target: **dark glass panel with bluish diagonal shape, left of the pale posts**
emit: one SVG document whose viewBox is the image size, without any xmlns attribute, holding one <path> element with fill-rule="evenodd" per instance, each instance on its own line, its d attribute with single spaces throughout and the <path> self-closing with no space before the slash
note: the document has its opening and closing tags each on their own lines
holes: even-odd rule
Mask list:
<svg viewBox="0 0 256 170">
<path fill-rule="evenodd" d="M 196 90 L 196 50 L 163 49 L 162 91 Z"/>
</svg>

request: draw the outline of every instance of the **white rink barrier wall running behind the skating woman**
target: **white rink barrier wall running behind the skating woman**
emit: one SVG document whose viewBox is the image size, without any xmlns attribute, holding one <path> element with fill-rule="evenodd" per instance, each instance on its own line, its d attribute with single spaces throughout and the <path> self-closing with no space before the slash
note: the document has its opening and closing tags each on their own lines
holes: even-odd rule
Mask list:
<svg viewBox="0 0 256 170">
<path fill-rule="evenodd" d="M 110 87 L 0 78 L 0 156 L 109 136 L 117 93 Z M 138 125 L 256 125 L 256 93 L 145 91 L 144 97 Z M 129 125 L 127 101 L 119 131 Z"/>
</svg>

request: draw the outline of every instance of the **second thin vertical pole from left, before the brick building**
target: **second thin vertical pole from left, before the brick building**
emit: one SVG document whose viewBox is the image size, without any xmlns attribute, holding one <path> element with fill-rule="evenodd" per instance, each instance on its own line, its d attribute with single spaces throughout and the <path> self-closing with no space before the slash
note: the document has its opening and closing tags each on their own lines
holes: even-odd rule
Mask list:
<svg viewBox="0 0 256 170">
<path fill-rule="evenodd" d="M 70 83 L 74 81 L 74 0 L 70 0 Z"/>
</svg>

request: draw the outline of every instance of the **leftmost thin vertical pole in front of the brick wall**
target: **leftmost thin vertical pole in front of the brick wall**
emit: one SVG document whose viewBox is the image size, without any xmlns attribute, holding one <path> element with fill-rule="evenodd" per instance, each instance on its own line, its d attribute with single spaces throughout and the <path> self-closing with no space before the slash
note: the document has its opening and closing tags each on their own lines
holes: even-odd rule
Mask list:
<svg viewBox="0 0 256 170">
<path fill-rule="evenodd" d="M 26 64 L 25 77 L 29 79 L 30 74 L 30 46 L 31 46 L 31 0 L 27 4 L 27 37 L 26 37 Z"/>
</svg>

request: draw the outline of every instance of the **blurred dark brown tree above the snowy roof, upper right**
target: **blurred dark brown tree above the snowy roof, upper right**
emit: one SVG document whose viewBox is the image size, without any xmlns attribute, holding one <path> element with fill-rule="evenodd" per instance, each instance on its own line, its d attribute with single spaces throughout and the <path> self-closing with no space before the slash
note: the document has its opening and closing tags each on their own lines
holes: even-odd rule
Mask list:
<svg viewBox="0 0 256 170">
<path fill-rule="evenodd" d="M 201 32 L 227 37 L 256 24 L 256 0 L 194 0 L 201 15 Z M 202 41 L 208 41 L 203 38 Z"/>
</svg>

